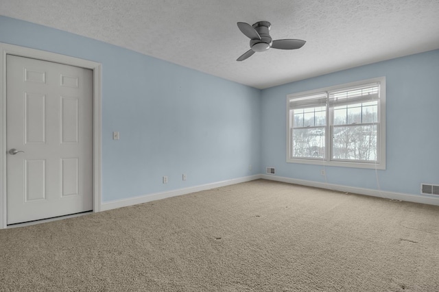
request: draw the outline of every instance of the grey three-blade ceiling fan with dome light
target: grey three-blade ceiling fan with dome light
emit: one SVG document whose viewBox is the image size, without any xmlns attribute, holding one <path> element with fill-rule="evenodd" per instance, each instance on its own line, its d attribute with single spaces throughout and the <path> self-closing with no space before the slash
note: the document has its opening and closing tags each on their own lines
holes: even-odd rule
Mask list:
<svg viewBox="0 0 439 292">
<path fill-rule="evenodd" d="M 305 40 L 283 39 L 272 40 L 270 36 L 271 23 L 268 21 L 258 21 L 254 25 L 248 23 L 237 23 L 239 30 L 250 38 L 250 49 L 243 53 L 237 61 L 244 61 L 257 51 L 267 51 L 274 49 L 300 49 L 305 45 Z"/>
</svg>

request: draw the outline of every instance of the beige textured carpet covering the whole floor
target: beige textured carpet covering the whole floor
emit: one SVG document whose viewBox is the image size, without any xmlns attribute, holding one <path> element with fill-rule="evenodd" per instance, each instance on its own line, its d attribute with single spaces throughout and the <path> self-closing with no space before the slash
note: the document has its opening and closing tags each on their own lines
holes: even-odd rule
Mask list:
<svg viewBox="0 0 439 292">
<path fill-rule="evenodd" d="M 256 180 L 0 230 L 0 291 L 439 291 L 439 208 Z"/>
</svg>

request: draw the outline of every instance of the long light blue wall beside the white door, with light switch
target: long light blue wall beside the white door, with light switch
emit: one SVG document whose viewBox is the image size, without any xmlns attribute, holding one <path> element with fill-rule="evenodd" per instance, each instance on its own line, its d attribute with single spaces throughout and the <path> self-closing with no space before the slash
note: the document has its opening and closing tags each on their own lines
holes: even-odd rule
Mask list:
<svg viewBox="0 0 439 292">
<path fill-rule="evenodd" d="M 261 169 L 260 90 L 4 16 L 0 42 L 102 63 L 104 202 Z M 120 132 L 119 141 L 112 140 L 113 131 Z"/>
</svg>

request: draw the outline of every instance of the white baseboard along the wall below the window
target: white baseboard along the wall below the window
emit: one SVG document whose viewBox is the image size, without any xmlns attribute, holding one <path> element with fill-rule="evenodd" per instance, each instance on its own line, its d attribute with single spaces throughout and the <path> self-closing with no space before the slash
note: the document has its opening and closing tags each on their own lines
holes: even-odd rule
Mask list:
<svg viewBox="0 0 439 292">
<path fill-rule="evenodd" d="M 298 180 L 296 178 L 285 178 L 276 175 L 261 175 L 264 180 L 274 180 L 276 182 L 287 182 L 289 184 L 300 184 L 302 186 L 313 186 L 316 188 L 326 188 L 333 191 L 381 197 L 383 199 L 394 199 L 398 201 L 414 202 L 439 206 L 439 197 L 428 195 L 411 195 L 406 193 L 394 193 L 389 191 L 373 190 L 371 188 L 357 188 L 355 186 L 343 186 L 340 184 L 327 184 L 325 182 L 313 182 L 311 180 Z"/>
</svg>

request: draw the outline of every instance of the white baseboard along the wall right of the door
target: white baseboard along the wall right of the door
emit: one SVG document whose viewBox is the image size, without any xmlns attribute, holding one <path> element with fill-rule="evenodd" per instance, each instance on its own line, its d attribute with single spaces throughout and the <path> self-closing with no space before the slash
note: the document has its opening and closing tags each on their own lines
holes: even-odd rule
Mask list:
<svg viewBox="0 0 439 292">
<path fill-rule="evenodd" d="M 101 210 L 111 210 L 115 208 L 121 208 L 126 206 L 132 206 L 136 204 L 142 204 L 146 202 L 156 201 L 158 199 L 166 199 L 168 197 L 176 197 L 179 195 L 186 195 L 189 193 L 195 193 L 200 191 L 210 190 L 212 188 L 219 188 L 221 186 L 230 186 L 232 184 L 239 184 L 241 182 L 250 182 L 251 180 L 259 180 L 261 175 L 250 175 L 244 178 L 235 178 L 233 180 L 223 180 L 222 182 L 213 182 L 211 184 L 202 184 L 200 186 L 192 186 L 190 188 L 180 188 L 174 191 L 167 191 L 163 193 L 152 193 L 148 195 L 142 195 L 139 197 L 131 197 L 128 199 L 118 199 L 111 202 L 104 202 L 101 205 Z"/>
</svg>

